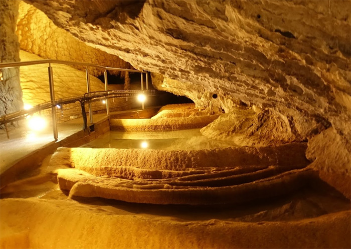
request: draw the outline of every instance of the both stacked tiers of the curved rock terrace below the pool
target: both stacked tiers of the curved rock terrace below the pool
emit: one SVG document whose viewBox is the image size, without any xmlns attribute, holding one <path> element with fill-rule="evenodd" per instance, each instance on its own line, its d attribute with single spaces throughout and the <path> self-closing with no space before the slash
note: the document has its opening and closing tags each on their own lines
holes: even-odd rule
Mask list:
<svg viewBox="0 0 351 249">
<path fill-rule="evenodd" d="M 213 150 L 59 148 L 50 166 L 70 196 L 223 204 L 287 194 L 312 178 L 304 144 Z M 64 168 L 62 167 L 69 167 Z"/>
</svg>

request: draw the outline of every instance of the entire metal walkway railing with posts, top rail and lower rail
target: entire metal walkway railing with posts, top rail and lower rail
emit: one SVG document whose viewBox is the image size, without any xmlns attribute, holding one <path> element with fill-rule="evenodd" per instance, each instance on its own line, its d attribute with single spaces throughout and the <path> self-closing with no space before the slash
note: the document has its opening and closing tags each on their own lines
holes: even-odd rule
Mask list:
<svg viewBox="0 0 351 249">
<path fill-rule="evenodd" d="M 67 104 L 67 103 L 74 103 L 79 101 L 81 103 L 82 113 L 83 113 L 83 121 L 84 126 L 83 128 L 87 128 L 87 121 L 86 121 L 86 113 L 85 113 L 85 102 L 88 101 L 89 106 L 89 118 L 90 123 L 93 123 L 93 111 L 91 107 L 91 102 L 101 99 L 101 98 L 121 98 L 121 97 L 135 97 L 135 90 L 113 90 L 108 91 L 108 80 L 107 80 L 107 71 L 122 71 L 122 72 L 132 72 L 132 73 L 140 73 L 141 74 L 141 92 L 153 96 L 155 95 L 155 91 L 148 90 L 148 72 L 147 71 L 140 71 L 135 69 L 124 69 L 124 68 L 113 68 L 113 67 L 104 67 L 100 65 L 95 65 L 91 63 L 84 63 L 84 62 L 70 62 L 70 61 L 61 61 L 61 60 L 38 60 L 38 61 L 26 61 L 26 62 L 7 62 L 7 63 L 0 63 L 0 69 L 8 69 L 8 68 L 18 68 L 23 66 L 31 66 L 31 65 L 40 65 L 40 64 L 49 64 L 48 67 L 48 81 L 49 81 L 49 89 L 50 89 L 50 102 L 43 103 L 40 105 L 35 106 L 30 110 L 21 110 L 15 113 L 11 113 L 5 116 L 0 117 L 0 125 L 5 125 L 6 132 L 9 137 L 7 123 L 17 121 L 21 118 L 25 118 L 27 115 L 30 115 L 34 112 L 49 109 L 51 108 L 52 114 L 52 124 L 53 124 L 53 134 L 54 139 L 58 140 L 58 129 L 57 129 L 57 117 L 56 117 L 56 106 L 58 104 Z M 53 78 L 53 68 L 51 64 L 64 64 L 64 65 L 76 65 L 76 66 L 85 66 L 85 75 L 86 75 L 86 83 L 87 83 L 87 93 L 84 96 L 78 96 L 73 98 L 65 98 L 56 100 L 55 99 L 55 87 L 54 87 L 54 78 Z M 104 69 L 104 84 L 105 84 L 105 91 L 103 92 L 91 92 L 90 89 L 90 75 L 89 75 L 89 67 L 95 67 Z M 144 76 L 146 75 L 146 91 L 144 91 Z M 136 91 L 139 92 L 139 91 Z M 142 103 L 142 108 L 144 108 L 144 103 Z M 106 113 L 109 115 L 109 105 L 108 101 L 106 101 Z"/>
</svg>

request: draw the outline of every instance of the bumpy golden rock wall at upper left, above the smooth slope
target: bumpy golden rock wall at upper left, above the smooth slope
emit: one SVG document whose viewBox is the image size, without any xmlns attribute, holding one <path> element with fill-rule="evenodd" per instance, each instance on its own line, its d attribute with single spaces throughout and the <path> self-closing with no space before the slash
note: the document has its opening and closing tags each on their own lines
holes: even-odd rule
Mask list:
<svg viewBox="0 0 351 249">
<path fill-rule="evenodd" d="M 94 49 L 77 40 L 69 32 L 58 28 L 40 10 L 21 1 L 19 5 L 19 18 L 17 30 L 21 49 L 38 55 L 43 59 L 56 59 L 63 61 L 86 62 L 96 65 L 129 68 L 132 66 L 121 60 L 118 56 L 107 54 Z M 85 70 L 81 66 L 73 66 Z M 94 76 L 103 75 L 103 70 L 90 68 Z M 109 71 L 110 74 L 124 77 L 124 72 Z"/>
</svg>

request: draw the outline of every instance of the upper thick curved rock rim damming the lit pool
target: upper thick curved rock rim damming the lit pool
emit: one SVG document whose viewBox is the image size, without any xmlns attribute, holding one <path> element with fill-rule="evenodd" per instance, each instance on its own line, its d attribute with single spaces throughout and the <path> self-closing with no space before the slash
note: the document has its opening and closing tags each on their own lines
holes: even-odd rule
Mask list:
<svg viewBox="0 0 351 249">
<path fill-rule="evenodd" d="M 309 163 L 304 155 L 305 149 L 305 143 L 191 151 L 58 148 L 51 158 L 50 165 L 53 167 L 64 165 L 108 176 L 117 176 L 118 168 L 123 167 L 174 171 L 251 165 L 304 167 Z M 118 177 L 129 178 L 128 174 L 123 175 L 122 170 L 120 172 Z M 142 178 L 138 174 L 135 174 L 135 177 Z"/>
</svg>

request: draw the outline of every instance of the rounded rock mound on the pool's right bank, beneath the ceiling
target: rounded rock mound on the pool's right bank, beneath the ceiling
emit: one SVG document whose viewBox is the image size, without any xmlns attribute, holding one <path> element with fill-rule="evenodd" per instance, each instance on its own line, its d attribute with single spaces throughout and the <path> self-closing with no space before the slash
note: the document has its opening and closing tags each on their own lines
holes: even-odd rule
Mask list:
<svg viewBox="0 0 351 249">
<path fill-rule="evenodd" d="M 241 146 L 267 146 L 301 140 L 293 122 L 272 109 L 257 113 L 252 109 L 233 110 L 202 128 L 201 133 L 212 139 L 231 140 Z"/>
</svg>

